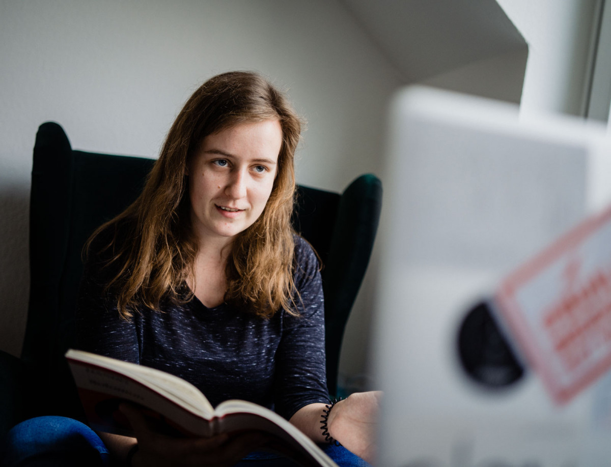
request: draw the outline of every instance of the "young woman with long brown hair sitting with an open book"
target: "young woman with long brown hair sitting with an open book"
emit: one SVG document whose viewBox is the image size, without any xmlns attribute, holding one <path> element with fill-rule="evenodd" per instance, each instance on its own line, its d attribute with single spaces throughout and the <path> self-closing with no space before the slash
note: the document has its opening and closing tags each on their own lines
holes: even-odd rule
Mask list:
<svg viewBox="0 0 611 467">
<path fill-rule="evenodd" d="M 273 408 L 324 442 L 319 264 L 290 224 L 300 130 L 285 96 L 257 74 L 205 82 L 172 125 L 141 196 L 87 244 L 77 335 L 81 349 L 178 375 L 213 405 L 246 399 Z M 376 393 L 338 402 L 329 434 L 370 458 L 377 404 Z M 122 410 L 136 438 L 100 436 L 133 466 L 234 465 L 266 442 L 257 432 L 169 438 L 133 407 Z M 362 463 L 327 446 L 342 463 Z"/>
</svg>

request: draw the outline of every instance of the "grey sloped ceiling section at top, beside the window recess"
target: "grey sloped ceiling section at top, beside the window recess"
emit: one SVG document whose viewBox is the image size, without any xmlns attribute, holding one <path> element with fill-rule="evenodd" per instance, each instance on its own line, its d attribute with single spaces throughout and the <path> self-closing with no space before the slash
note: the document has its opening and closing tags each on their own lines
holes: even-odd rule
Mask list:
<svg viewBox="0 0 611 467">
<path fill-rule="evenodd" d="M 340 1 L 406 83 L 527 51 L 495 0 Z"/>
</svg>

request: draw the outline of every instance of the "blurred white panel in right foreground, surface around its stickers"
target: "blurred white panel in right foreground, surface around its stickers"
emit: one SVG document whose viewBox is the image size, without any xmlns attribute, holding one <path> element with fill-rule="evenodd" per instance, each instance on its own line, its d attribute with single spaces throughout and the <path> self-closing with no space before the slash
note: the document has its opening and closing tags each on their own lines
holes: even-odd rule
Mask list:
<svg viewBox="0 0 611 467">
<path fill-rule="evenodd" d="M 396 96 L 375 311 L 373 371 L 386 393 L 376 465 L 601 465 L 584 458 L 586 444 L 601 446 L 595 388 L 555 407 L 529 369 L 483 385 L 458 352 L 465 318 L 503 275 L 609 200 L 588 187 L 609 164 L 599 130 L 521 120 L 510 104 L 449 92 Z"/>
</svg>

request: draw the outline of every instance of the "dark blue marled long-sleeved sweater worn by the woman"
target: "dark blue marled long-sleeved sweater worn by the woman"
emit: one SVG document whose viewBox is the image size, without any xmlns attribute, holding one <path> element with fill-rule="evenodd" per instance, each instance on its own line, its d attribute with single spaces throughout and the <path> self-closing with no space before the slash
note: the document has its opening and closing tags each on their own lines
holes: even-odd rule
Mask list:
<svg viewBox="0 0 611 467">
<path fill-rule="evenodd" d="M 104 297 L 103 275 L 86 265 L 79 293 L 77 348 L 177 375 L 216 406 L 251 400 L 290 418 L 299 408 L 327 402 L 324 304 L 318 261 L 295 237 L 295 284 L 301 295 L 294 317 L 280 310 L 262 319 L 229 305 L 207 308 L 197 298 L 164 313 L 120 319 Z"/>
</svg>

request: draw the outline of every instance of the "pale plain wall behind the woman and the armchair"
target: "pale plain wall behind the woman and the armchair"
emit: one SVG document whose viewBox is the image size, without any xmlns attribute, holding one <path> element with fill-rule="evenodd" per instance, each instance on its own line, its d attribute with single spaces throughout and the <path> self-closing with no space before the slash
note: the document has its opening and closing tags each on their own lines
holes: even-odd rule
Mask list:
<svg viewBox="0 0 611 467">
<path fill-rule="evenodd" d="M 342 190 L 360 173 L 379 173 L 386 101 L 398 85 L 343 7 L 327 0 L 2 1 L 0 63 L 0 349 L 14 355 L 26 320 L 40 123 L 58 121 L 75 148 L 155 157 L 201 82 L 257 70 L 287 87 L 309 121 L 299 183 Z M 357 321 L 368 297 L 359 297 Z"/>
</svg>

